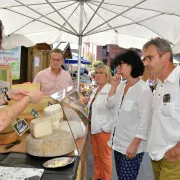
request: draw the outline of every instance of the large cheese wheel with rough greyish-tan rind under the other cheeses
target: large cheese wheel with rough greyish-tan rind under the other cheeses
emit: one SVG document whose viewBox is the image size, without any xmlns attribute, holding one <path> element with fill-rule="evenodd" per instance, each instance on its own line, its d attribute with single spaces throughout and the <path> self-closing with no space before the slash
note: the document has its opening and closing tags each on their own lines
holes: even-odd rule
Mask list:
<svg viewBox="0 0 180 180">
<path fill-rule="evenodd" d="M 76 149 L 72 134 L 57 130 L 53 134 L 41 138 L 34 138 L 31 134 L 26 140 L 28 154 L 38 157 L 55 157 L 68 154 Z"/>
</svg>

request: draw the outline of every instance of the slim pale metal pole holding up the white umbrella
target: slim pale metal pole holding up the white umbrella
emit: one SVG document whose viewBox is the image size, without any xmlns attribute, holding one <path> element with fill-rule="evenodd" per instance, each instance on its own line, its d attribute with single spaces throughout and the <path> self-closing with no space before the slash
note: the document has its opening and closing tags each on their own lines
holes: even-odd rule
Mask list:
<svg viewBox="0 0 180 180">
<path fill-rule="evenodd" d="M 83 28 L 83 8 L 84 2 L 80 2 L 80 22 L 79 22 L 79 39 L 78 39 L 78 72 L 77 72 L 77 91 L 80 86 L 80 69 L 81 69 L 81 50 L 82 50 L 82 28 Z"/>
</svg>

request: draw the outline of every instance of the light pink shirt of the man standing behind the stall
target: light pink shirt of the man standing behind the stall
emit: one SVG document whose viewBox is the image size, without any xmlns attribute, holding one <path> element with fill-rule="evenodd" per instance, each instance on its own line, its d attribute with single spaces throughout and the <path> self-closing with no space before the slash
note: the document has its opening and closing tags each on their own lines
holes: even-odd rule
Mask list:
<svg viewBox="0 0 180 180">
<path fill-rule="evenodd" d="M 61 68 L 60 73 L 56 76 L 51 67 L 37 73 L 33 83 L 40 83 L 41 91 L 45 95 L 52 95 L 61 89 L 73 86 L 70 74 Z"/>
</svg>

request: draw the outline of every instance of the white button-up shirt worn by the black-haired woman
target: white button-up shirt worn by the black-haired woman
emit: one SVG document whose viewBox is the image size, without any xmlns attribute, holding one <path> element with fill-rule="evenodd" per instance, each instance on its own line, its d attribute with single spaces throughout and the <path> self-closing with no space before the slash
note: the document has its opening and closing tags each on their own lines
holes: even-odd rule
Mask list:
<svg viewBox="0 0 180 180">
<path fill-rule="evenodd" d="M 108 97 L 108 104 L 115 106 L 115 126 L 108 145 L 114 150 L 126 154 L 126 150 L 135 137 L 142 139 L 137 153 L 147 151 L 147 139 L 152 119 L 153 94 L 149 86 L 139 80 L 130 87 L 123 98 L 126 81 L 121 82 L 116 94 Z"/>
</svg>

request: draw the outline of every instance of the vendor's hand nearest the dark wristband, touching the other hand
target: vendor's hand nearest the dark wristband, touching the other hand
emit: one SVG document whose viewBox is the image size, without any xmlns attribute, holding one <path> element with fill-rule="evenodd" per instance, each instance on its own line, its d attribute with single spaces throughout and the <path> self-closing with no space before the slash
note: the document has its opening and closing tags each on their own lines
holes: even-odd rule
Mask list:
<svg viewBox="0 0 180 180">
<path fill-rule="evenodd" d="M 28 92 L 25 90 L 20 90 L 20 89 L 11 89 L 11 90 L 7 91 L 6 94 L 8 95 L 8 97 L 10 99 L 19 101 L 24 96 L 27 96 Z"/>
</svg>

